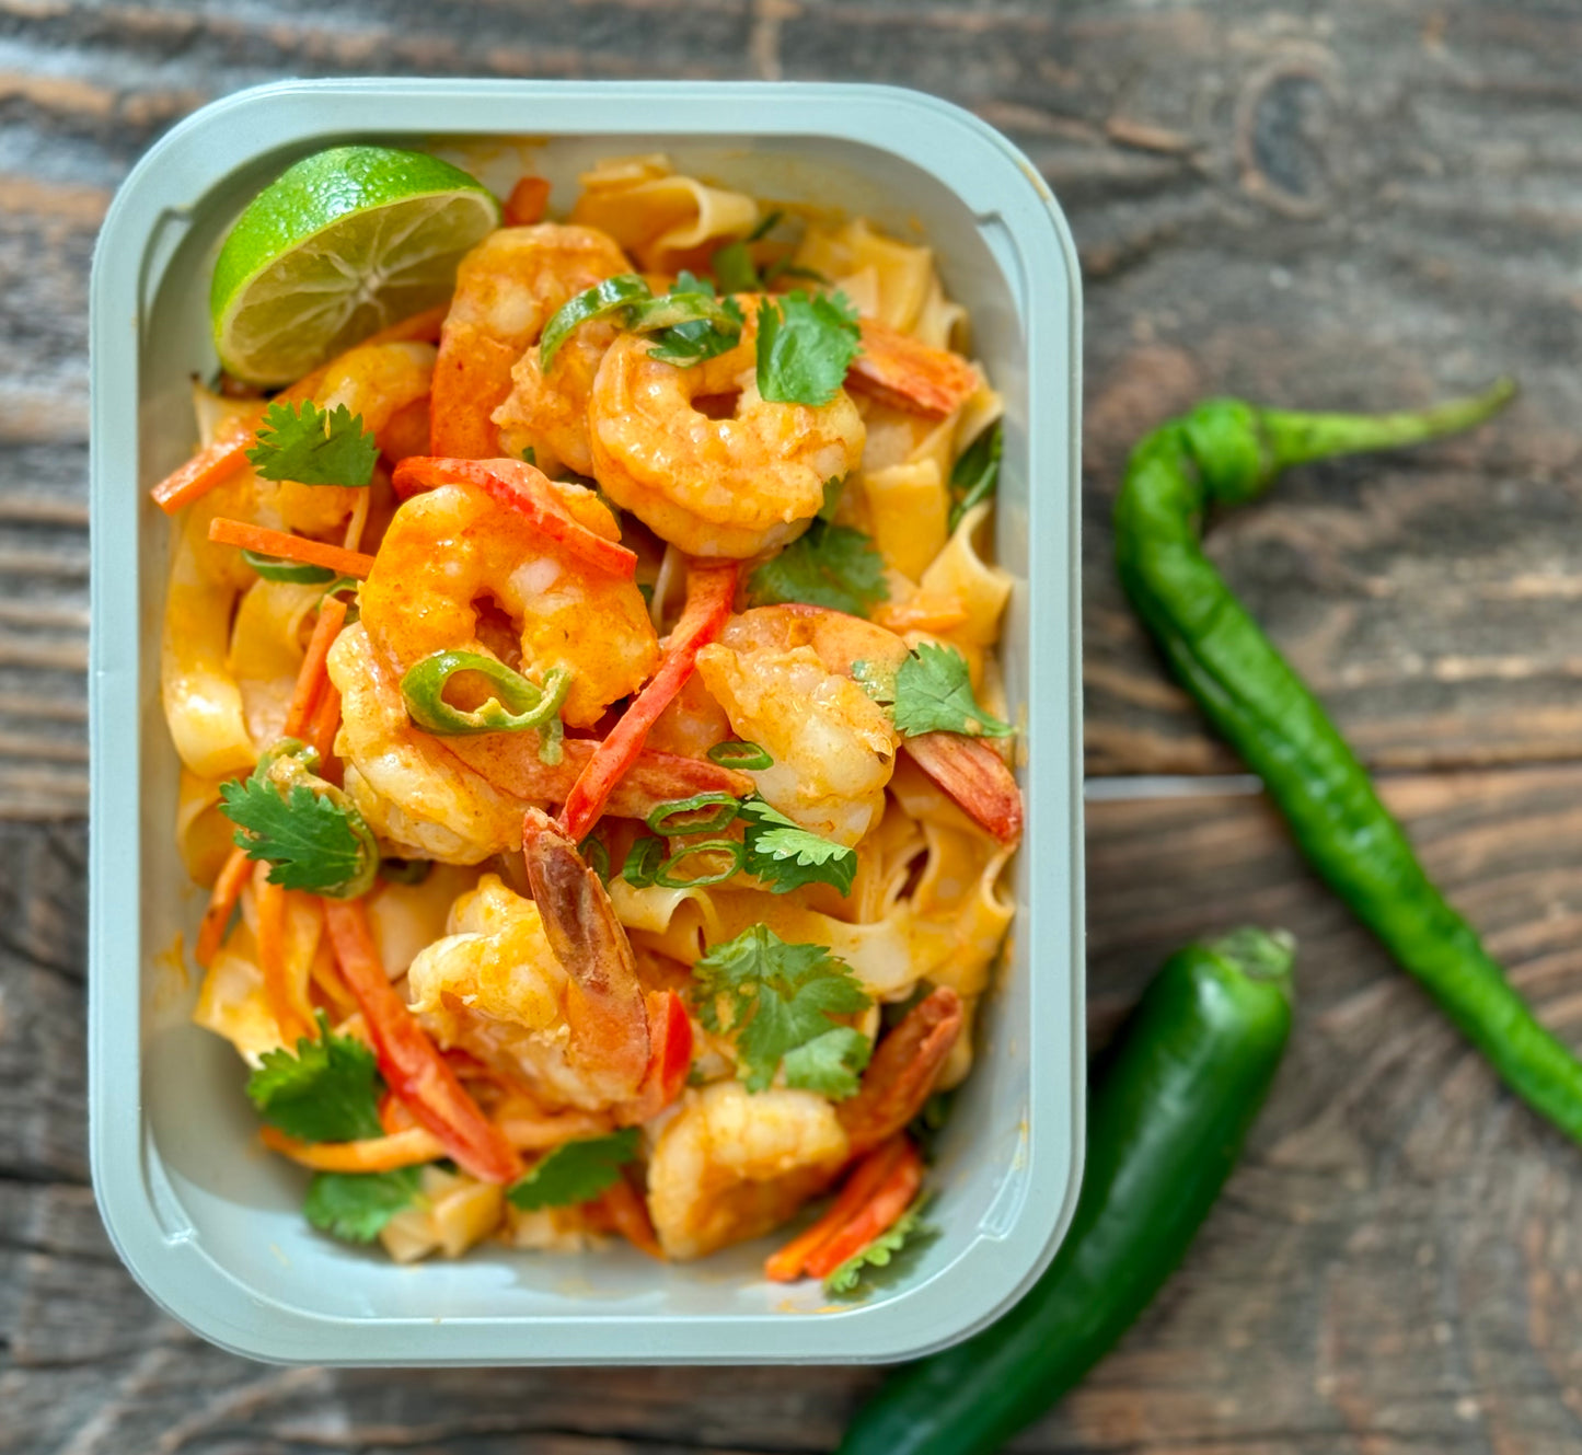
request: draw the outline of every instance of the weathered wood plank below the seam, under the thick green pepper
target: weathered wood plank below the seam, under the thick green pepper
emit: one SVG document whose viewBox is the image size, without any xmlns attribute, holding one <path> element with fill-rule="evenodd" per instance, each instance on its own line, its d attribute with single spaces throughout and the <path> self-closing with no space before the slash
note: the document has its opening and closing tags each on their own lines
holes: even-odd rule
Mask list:
<svg viewBox="0 0 1582 1455">
<path fill-rule="evenodd" d="M 1582 767 L 1411 775 L 1386 792 L 1517 984 L 1582 1039 Z M 870 1371 L 392 1379 L 259 1368 L 174 1328 L 111 1262 L 78 1185 L 82 849 L 81 826 L 0 826 L 0 1452 L 831 1447 Z M 1582 1153 L 1498 1090 L 1311 879 L 1267 803 L 1093 805 L 1088 901 L 1095 1044 L 1171 949 L 1248 920 L 1300 936 L 1299 1025 L 1180 1276 L 1016 1449 L 1582 1444 Z"/>
</svg>

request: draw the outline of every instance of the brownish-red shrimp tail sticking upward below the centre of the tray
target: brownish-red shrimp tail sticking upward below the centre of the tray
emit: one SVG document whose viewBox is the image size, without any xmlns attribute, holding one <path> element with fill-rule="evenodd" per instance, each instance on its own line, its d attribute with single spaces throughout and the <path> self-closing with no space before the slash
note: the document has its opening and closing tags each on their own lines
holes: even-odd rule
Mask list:
<svg viewBox="0 0 1582 1455">
<path fill-rule="evenodd" d="M 576 843 L 538 808 L 522 824 L 522 852 L 544 938 L 570 977 L 566 1025 L 577 1061 L 612 1101 L 625 1101 L 649 1069 L 649 1011 L 631 941 Z"/>
</svg>

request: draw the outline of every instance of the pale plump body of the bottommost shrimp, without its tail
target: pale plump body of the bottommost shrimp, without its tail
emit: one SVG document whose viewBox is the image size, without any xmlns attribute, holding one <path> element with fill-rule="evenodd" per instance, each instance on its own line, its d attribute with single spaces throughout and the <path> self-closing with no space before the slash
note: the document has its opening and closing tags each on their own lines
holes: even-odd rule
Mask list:
<svg viewBox="0 0 1582 1455">
<path fill-rule="evenodd" d="M 702 1257 L 778 1227 L 851 1155 L 835 1107 L 812 1091 L 715 1082 L 660 1132 L 649 1213 L 669 1257 Z"/>
</svg>

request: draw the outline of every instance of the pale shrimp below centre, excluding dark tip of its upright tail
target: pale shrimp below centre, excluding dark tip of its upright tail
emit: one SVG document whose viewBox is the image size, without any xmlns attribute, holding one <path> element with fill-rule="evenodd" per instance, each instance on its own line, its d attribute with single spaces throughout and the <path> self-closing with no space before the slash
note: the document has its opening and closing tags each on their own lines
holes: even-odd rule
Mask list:
<svg viewBox="0 0 1582 1455">
<path fill-rule="evenodd" d="M 623 932 L 617 943 L 604 927 L 581 928 L 592 954 L 568 974 L 539 906 L 495 875 L 456 901 L 446 930 L 407 973 L 413 1012 L 440 1045 L 511 1068 L 547 1105 L 604 1110 L 633 1093 L 649 1058 L 642 993 L 633 971 L 626 1017 L 604 988 L 619 977 L 606 957 L 620 955 Z"/>
</svg>

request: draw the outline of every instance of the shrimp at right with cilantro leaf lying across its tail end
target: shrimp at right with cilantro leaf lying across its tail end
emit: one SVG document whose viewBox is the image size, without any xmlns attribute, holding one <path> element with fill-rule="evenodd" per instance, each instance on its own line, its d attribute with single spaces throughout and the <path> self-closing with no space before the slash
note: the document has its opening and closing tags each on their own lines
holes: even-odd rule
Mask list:
<svg viewBox="0 0 1582 1455">
<path fill-rule="evenodd" d="M 1022 796 L 981 739 L 902 739 L 853 680 L 857 663 L 899 667 L 911 648 L 883 626 L 818 606 L 761 606 L 732 617 L 698 671 L 737 735 L 774 764 L 751 773 L 763 797 L 805 829 L 854 845 L 878 821 L 905 748 L 1001 843 L 1022 832 Z"/>
</svg>

